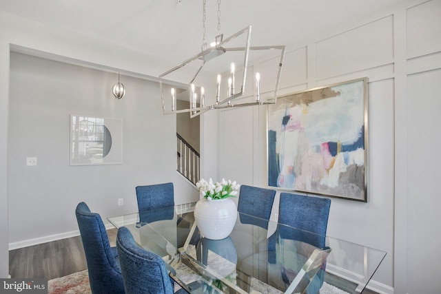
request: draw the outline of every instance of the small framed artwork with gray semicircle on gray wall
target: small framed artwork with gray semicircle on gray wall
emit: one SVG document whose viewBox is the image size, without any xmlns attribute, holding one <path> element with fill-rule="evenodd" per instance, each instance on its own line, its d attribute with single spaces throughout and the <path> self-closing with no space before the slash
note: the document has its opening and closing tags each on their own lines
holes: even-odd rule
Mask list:
<svg viewBox="0 0 441 294">
<path fill-rule="evenodd" d="M 123 120 L 70 115 L 70 165 L 123 163 Z"/>
</svg>

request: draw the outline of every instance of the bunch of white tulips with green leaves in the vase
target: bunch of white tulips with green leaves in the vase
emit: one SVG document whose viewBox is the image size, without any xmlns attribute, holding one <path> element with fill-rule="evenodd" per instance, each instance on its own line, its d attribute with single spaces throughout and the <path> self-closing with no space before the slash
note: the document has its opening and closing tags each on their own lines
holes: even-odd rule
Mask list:
<svg viewBox="0 0 441 294">
<path fill-rule="evenodd" d="M 204 179 L 196 182 L 201 196 L 207 198 L 207 200 L 219 200 L 228 197 L 236 197 L 240 185 L 236 181 L 222 179 L 220 182 L 213 182 L 212 178 L 209 178 L 208 182 Z"/>
</svg>

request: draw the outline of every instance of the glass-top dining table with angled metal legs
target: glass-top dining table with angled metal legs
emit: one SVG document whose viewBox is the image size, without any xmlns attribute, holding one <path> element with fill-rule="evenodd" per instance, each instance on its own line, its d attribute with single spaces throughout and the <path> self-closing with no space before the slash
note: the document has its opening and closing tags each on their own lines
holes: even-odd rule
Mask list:
<svg viewBox="0 0 441 294">
<path fill-rule="evenodd" d="M 361 293 L 386 255 L 240 212 L 227 238 L 210 240 L 193 211 L 181 204 L 107 220 L 160 255 L 188 293 Z"/>
</svg>

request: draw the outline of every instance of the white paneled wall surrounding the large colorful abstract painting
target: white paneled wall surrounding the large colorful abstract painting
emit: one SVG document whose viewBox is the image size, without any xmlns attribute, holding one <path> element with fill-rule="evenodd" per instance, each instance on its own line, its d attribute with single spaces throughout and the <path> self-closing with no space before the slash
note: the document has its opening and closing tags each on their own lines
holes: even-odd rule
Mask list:
<svg viewBox="0 0 441 294">
<path fill-rule="evenodd" d="M 369 78 L 369 202 L 331 198 L 328 234 L 387 251 L 369 283 L 381 293 L 441 288 L 440 15 L 441 1 L 404 1 L 289 46 L 283 64 L 280 94 Z M 267 187 L 266 115 L 220 112 L 221 177 Z"/>
</svg>

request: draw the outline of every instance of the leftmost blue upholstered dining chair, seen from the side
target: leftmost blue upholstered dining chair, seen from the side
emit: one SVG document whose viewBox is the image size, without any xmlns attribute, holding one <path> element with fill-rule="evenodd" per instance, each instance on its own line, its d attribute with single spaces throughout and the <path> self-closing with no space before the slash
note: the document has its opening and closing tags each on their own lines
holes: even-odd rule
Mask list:
<svg viewBox="0 0 441 294">
<path fill-rule="evenodd" d="M 110 247 L 107 232 L 98 213 L 85 202 L 75 210 L 88 263 L 90 288 L 94 294 L 125 293 L 116 247 Z"/>
</svg>

